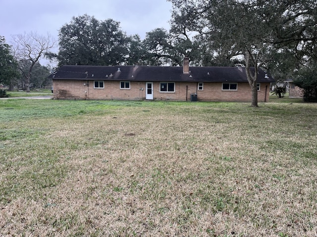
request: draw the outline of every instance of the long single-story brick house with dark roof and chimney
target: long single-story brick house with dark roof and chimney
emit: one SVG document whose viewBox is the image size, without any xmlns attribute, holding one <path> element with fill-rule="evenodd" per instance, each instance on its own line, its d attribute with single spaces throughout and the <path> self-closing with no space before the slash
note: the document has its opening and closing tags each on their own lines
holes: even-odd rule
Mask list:
<svg viewBox="0 0 317 237">
<path fill-rule="evenodd" d="M 251 101 L 243 67 L 62 66 L 53 78 L 54 99 Z M 258 100 L 270 83 L 258 75 Z"/>
</svg>

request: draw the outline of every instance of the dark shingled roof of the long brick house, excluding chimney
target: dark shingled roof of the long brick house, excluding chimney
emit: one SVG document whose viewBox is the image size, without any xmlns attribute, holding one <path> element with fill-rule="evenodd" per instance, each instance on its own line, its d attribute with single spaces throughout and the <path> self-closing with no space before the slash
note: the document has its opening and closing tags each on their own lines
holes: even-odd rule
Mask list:
<svg viewBox="0 0 317 237">
<path fill-rule="evenodd" d="M 128 81 L 200 81 L 200 82 L 247 82 L 245 68 L 240 67 L 183 67 L 160 66 L 62 66 L 52 74 L 53 79 L 67 80 L 128 80 Z M 259 71 L 258 82 L 272 82 Z"/>
</svg>

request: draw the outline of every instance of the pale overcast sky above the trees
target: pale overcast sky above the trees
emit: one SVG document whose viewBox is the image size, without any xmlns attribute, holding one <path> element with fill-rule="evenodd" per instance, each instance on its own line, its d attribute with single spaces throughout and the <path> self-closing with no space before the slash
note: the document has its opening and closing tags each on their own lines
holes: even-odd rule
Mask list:
<svg viewBox="0 0 317 237">
<path fill-rule="evenodd" d="M 0 36 L 37 32 L 58 39 L 58 30 L 73 16 L 88 14 L 120 22 L 127 35 L 141 40 L 156 28 L 169 30 L 172 4 L 166 0 L 0 0 Z"/>
</svg>

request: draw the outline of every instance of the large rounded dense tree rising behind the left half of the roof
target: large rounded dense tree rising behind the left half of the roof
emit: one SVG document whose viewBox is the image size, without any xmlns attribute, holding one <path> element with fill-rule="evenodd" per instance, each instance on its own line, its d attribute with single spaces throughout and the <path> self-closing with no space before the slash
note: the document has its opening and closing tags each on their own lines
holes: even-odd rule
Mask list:
<svg viewBox="0 0 317 237">
<path fill-rule="evenodd" d="M 116 65 L 127 60 L 129 39 L 112 19 L 87 14 L 73 17 L 59 30 L 59 65 Z"/>
</svg>

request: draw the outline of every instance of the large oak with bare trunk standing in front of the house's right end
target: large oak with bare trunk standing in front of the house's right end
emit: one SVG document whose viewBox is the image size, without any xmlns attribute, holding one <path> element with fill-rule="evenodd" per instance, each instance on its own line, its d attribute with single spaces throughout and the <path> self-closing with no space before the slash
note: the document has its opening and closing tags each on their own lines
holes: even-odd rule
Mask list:
<svg viewBox="0 0 317 237">
<path fill-rule="evenodd" d="M 169 0 L 172 24 L 190 27 L 209 44 L 211 53 L 241 56 L 258 106 L 257 75 L 277 52 L 303 58 L 316 45 L 316 0 Z M 183 23 L 182 23 L 183 21 Z M 304 53 L 305 54 L 305 53 Z"/>
</svg>

